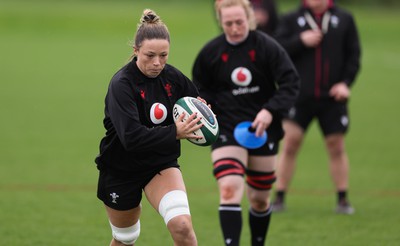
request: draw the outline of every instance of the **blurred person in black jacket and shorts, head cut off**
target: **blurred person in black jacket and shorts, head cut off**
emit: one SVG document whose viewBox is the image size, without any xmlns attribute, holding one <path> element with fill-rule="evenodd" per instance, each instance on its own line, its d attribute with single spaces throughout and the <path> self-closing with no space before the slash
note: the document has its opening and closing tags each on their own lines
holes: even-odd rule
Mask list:
<svg viewBox="0 0 400 246">
<path fill-rule="evenodd" d="M 285 194 L 296 158 L 311 121 L 318 119 L 328 151 L 338 201 L 336 212 L 352 214 L 347 192 L 349 160 L 345 133 L 349 127 L 350 86 L 360 68 L 360 43 L 352 15 L 331 0 L 304 0 L 279 22 L 275 38 L 287 50 L 301 77 L 295 107 L 284 121 L 274 211 L 285 209 Z"/>
</svg>

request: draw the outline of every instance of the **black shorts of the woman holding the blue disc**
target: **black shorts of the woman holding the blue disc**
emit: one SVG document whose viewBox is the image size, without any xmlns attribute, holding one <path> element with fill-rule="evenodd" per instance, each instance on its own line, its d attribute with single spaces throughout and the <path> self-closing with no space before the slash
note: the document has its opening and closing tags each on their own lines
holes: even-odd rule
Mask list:
<svg viewBox="0 0 400 246">
<path fill-rule="evenodd" d="M 276 155 L 279 150 L 279 141 L 283 137 L 283 130 L 281 126 L 281 121 L 277 121 L 267 129 L 267 142 L 257 149 L 247 149 L 249 155 L 255 156 L 271 156 Z M 217 141 L 211 146 L 212 150 L 221 148 L 224 146 L 241 146 L 233 136 L 231 130 L 224 129 L 220 127 L 220 133 Z M 243 147 L 243 146 L 241 146 Z"/>
</svg>

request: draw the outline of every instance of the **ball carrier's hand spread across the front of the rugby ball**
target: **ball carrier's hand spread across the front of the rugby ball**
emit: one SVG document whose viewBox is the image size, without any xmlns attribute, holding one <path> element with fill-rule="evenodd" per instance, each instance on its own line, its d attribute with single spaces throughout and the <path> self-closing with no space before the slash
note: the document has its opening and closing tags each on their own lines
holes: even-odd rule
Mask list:
<svg viewBox="0 0 400 246">
<path fill-rule="evenodd" d="M 197 115 L 194 113 L 190 115 L 186 120 L 184 120 L 184 118 L 185 113 L 182 113 L 181 115 L 179 115 L 178 120 L 175 122 L 176 139 L 201 139 L 201 136 L 194 134 L 194 131 L 197 131 L 203 126 L 202 123 L 197 124 L 201 120 L 201 117 L 197 117 Z"/>
</svg>

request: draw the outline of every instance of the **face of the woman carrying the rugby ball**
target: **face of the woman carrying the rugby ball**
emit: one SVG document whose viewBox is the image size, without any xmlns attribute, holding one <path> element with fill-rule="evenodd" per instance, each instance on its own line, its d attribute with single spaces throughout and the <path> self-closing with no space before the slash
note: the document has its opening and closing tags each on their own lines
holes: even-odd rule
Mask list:
<svg viewBox="0 0 400 246">
<path fill-rule="evenodd" d="M 149 78 L 157 77 L 168 60 L 169 42 L 166 39 L 146 39 L 140 48 L 135 48 L 136 64 Z"/>
</svg>

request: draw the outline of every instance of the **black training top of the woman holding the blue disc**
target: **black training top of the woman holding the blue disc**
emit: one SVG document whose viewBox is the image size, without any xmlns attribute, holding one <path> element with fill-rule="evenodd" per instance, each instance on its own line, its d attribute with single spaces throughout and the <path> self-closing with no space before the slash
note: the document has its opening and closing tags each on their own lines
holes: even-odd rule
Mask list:
<svg viewBox="0 0 400 246">
<path fill-rule="evenodd" d="M 250 31 L 231 45 L 222 34 L 206 44 L 193 66 L 193 82 L 212 104 L 220 127 L 233 131 L 265 108 L 279 124 L 294 104 L 299 77 L 286 51 L 271 37 Z"/>
</svg>

